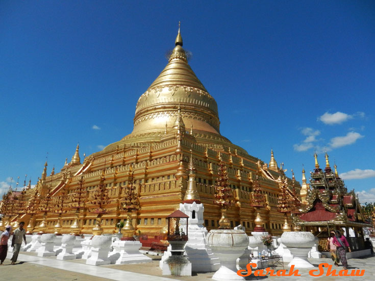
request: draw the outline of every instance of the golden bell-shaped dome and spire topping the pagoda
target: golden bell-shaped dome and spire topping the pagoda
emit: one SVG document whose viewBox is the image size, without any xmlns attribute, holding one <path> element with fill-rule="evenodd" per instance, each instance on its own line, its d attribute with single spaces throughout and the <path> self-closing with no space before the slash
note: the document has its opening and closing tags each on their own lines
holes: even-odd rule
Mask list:
<svg viewBox="0 0 375 281">
<path fill-rule="evenodd" d="M 175 45 L 166 67 L 138 99 L 132 135 L 173 127 L 179 107 L 186 127 L 220 135 L 216 101 L 188 64 L 180 28 Z"/>
</svg>

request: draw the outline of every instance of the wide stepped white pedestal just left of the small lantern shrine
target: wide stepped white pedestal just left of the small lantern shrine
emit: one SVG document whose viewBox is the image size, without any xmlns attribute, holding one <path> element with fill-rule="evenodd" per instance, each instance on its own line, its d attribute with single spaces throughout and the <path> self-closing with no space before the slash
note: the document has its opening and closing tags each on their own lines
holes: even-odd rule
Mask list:
<svg viewBox="0 0 375 281">
<path fill-rule="evenodd" d="M 112 243 L 113 252 L 108 257 L 111 264 L 151 263 L 153 259 L 139 252 L 142 243 L 139 241 L 120 241 Z"/>
</svg>

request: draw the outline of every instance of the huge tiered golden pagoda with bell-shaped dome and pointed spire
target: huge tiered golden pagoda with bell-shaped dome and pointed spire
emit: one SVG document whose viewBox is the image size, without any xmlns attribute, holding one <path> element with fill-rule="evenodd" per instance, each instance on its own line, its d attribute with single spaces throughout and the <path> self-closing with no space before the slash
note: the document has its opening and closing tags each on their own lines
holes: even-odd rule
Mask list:
<svg viewBox="0 0 375 281">
<path fill-rule="evenodd" d="M 277 166 L 273 150 L 268 165 L 220 134 L 216 101 L 189 66 L 179 28 L 167 65 L 138 99 L 133 132 L 86 157 L 83 163 L 77 145 L 70 163 L 65 161 L 60 172 L 55 170 L 47 176 L 45 165 L 35 189 L 45 196 L 51 187 L 48 194 L 52 197 L 60 196 L 64 190 L 66 208 L 62 209 L 66 212 L 48 213 L 47 229 L 43 231 L 53 233 L 60 222 L 61 233 L 70 233 L 73 223 L 81 227 L 76 229 L 77 233 L 91 233 L 97 223 L 97 214 L 90 211 L 95 209 L 95 191 L 104 185 L 109 197 L 101 216 L 104 233 L 114 233 L 116 223 L 127 219 L 127 211 L 122 206 L 130 187 L 139 199 L 139 207 L 130 214 L 136 233 L 160 232 L 166 225 L 166 217 L 179 208 L 191 185 L 187 172 L 190 168 L 192 173 L 189 161 L 195 163 L 198 192 L 195 195 L 204 203 L 208 230 L 217 228 L 221 217 L 220 207 L 214 204 L 213 185 L 222 162 L 233 198 L 238 202 L 227 211 L 230 227 L 241 224 L 247 233 L 253 231 L 256 213 L 250 194 L 253 183 L 257 182 L 266 198 L 266 208 L 259 211 L 264 228 L 272 234 L 282 233 L 284 216 L 278 212 L 277 179 L 286 178 L 284 170 Z M 292 182 L 290 178 L 285 181 Z M 82 209 L 77 215 L 73 207 L 76 191 L 82 190 L 80 185 L 87 194 L 82 197 Z M 299 194 L 301 186 L 295 183 L 294 188 Z M 29 198 L 35 193 L 33 189 L 26 192 Z M 32 217 L 34 221 L 30 225 L 34 230 L 43 220 L 42 212 L 19 216 L 26 224 Z"/>
</svg>

